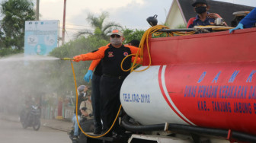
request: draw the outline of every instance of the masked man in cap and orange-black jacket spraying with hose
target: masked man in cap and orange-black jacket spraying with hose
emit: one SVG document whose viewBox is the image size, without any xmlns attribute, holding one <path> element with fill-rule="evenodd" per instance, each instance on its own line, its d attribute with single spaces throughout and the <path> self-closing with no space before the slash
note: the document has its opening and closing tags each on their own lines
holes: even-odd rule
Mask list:
<svg viewBox="0 0 256 143">
<path fill-rule="evenodd" d="M 101 59 L 102 76 L 100 81 L 101 92 L 101 119 L 103 122 L 103 133 L 110 129 L 120 106 L 120 88 L 124 78 L 129 75 L 129 71 L 123 71 L 120 67 L 123 59 L 136 54 L 139 50 L 135 46 L 123 45 L 123 33 L 120 30 L 113 30 L 110 33 L 110 44 L 102 46 L 94 52 L 88 52 L 73 57 L 75 62 Z M 128 57 L 123 62 L 123 68 L 130 68 L 132 57 Z M 114 126 L 114 132 L 122 134 L 123 129 L 117 124 Z M 110 135 L 110 134 L 108 134 Z"/>
</svg>

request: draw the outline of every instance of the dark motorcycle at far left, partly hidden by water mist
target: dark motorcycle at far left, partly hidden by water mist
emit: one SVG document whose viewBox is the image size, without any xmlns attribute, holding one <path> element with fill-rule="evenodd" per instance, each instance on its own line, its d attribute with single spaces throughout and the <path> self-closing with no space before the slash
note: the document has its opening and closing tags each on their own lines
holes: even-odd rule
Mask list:
<svg viewBox="0 0 256 143">
<path fill-rule="evenodd" d="M 20 115 L 21 125 L 24 129 L 32 126 L 35 131 L 40 129 L 40 107 L 31 106 L 30 110 L 26 113 L 23 111 Z"/>
</svg>

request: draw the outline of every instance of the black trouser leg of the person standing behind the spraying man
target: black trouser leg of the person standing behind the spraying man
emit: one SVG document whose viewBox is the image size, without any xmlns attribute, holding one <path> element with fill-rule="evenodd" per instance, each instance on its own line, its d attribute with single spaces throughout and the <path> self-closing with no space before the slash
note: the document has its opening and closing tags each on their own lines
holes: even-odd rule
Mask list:
<svg viewBox="0 0 256 143">
<path fill-rule="evenodd" d="M 101 130 L 101 76 L 93 75 L 91 79 L 91 104 L 94 116 L 94 129 Z"/>
</svg>

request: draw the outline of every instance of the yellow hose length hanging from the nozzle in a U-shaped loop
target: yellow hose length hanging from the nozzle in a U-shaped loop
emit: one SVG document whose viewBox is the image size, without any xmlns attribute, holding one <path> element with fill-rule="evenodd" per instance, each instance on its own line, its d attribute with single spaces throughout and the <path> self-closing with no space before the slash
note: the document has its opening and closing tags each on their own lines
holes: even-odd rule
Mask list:
<svg viewBox="0 0 256 143">
<path fill-rule="evenodd" d="M 75 70 L 74 70 L 74 66 L 73 66 L 73 63 L 72 63 L 72 60 L 73 59 L 70 59 L 70 58 L 61 58 L 62 60 L 70 60 L 70 63 L 71 63 L 71 66 L 72 66 L 72 71 L 73 71 L 73 76 L 74 76 L 74 82 L 75 82 L 75 94 L 76 94 L 76 103 L 75 103 L 75 109 L 78 109 L 78 91 L 76 90 L 77 89 L 77 84 L 76 84 L 76 80 L 75 80 Z M 110 129 L 107 130 L 107 132 L 105 132 L 104 134 L 102 135 L 88 135 L 87 133 L 85 133 L 85 131 L 81 128 L 80 124 L 79 124 L 79 121 L 78 121 L 78 110 L 75 110 L 75 115 L 76 115 L 76 122 L 78 122 L 78 127 L 79 129 L 81 129 L 82 133 L 85 134 L 86 136 L 90 137 L 90 138 L 101 138 L 103 137 L 104 135 L 106 135 L 108 132 L 110 132 L 110 130 L 113 128 L 114 126 L 114 123 L 117 121 L 117 117 L 120 113 L 120 110 L 122 108 L 122 105 L 120 105 L 119 107 L 119 110 L 117 112 L 117 116 L 116 118 L 114 119 L 114 122 L 112 124 L 112 126 L 110 126 Z"/>
</svg>

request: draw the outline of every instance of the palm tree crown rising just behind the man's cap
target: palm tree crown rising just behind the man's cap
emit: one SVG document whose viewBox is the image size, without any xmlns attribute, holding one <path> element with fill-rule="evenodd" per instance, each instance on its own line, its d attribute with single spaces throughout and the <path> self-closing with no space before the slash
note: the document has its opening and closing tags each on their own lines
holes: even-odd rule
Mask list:
<svg viewBox="0 0 256 143">
<path fill-rule="evenodd" d="M 107 17 L 109 17 L 107 12 L 101 13 L 99 17 L 95 17 L 93 14 L 88 14 L 87 21 L 91 24 L 91 27 L 94 28 L 94 31 L 88 29 L 81 30 L 75 34 L 75 37 L 80 37 L 82 35 L 94 35 L 98 38 L 109 40 L 108 34 L 111 33 L 114 28 L 123 29 L 123 27 L 120 24 L 116 24 L 114 22 L 108 22 L 104 24 L 104 21 Z"/>
</svg>

